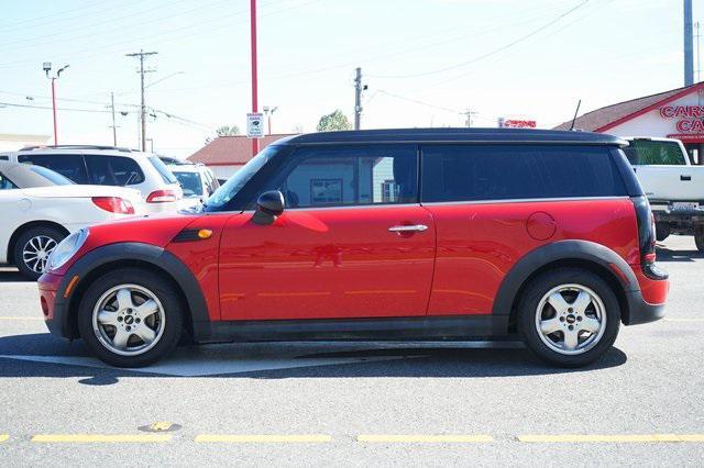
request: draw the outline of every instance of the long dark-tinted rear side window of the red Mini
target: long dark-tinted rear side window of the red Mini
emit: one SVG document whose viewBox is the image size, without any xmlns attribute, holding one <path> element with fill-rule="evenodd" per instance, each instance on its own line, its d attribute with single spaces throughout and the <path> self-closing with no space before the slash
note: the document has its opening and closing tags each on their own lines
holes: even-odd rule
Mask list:
<svg viewBox="0 0 704 468">
<path fill-rule="evenodd" d="M 426 145 L 422 201 L 627 194 L 609 149 L 573 145 Z"/>
</svg>

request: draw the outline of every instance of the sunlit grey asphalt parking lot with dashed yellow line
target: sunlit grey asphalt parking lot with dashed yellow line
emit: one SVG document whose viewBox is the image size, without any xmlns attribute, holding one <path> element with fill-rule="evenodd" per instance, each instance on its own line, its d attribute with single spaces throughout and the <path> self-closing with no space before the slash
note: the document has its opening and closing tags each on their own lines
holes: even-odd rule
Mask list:
<svg viewBox="0 0 704 468">
<path fill-rule="evenodd" d="M 493 348 L 182 347 L 109 368 L 47 334 L 34 283 L 0 270 L 0 465 L 704 464 L 704 255 L 659 249 L 666 320 L 622 327 L 585 369 Z"/>
</svg>

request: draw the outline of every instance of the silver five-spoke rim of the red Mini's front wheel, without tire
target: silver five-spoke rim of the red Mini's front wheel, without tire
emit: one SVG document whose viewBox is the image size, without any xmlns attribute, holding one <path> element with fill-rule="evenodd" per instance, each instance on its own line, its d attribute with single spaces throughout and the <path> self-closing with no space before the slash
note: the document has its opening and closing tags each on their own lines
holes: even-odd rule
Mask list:
<svg viewBox="0 0 704 468">
<path fill-rule="evenodd" d="M 152 349 L 164 333 L 166 315 L 154 292 L 138 285 L 106 291 L 92 311 L 100 343 L 114 354 L 136 356 Z"/>
</svg>

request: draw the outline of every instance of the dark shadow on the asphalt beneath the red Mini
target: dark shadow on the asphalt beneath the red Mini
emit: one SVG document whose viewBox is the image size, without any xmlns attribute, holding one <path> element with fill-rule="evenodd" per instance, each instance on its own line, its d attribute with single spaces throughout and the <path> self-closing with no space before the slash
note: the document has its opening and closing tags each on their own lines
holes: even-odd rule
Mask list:
<svg viewBox="0 0 704 468">
<path fill-rule="evenodd" d="M 354 344 L 350 344 L 355 346 Z M 292 354 L 292 350 L 294 353 Z M 3 378 L 81 378 L 78 383 L 107 386 L 122 377 L 142 378 L 370 378 L 430 377 L 486 378 L 542 376 L 583 372 L 622 366 L 627 356 L 612 348 L 597 363 L 564 369 L 543 364 L 525 348 L 463 348 L 442 346 L 374 345 L 340 350 L 340 344 L 248 344 L 186 346 L 164 366 L 140 370 L 112 368 L 88 357 L 81 341 L 68 343 L 47 333 L 0 337 L 0 379 Z M 3 357 L 4 356 L 4 357 Z M 10 358 L 9 356 L 18 356 Z M 243 364 L 240 370 L 228 371 L 228 359 Z M 77 360 L 80 360 L 79 364 Z M 286 360 L 285 368 L 266 369 L 267 363 Z M 296 363 L 301 365 L 297 366 Z M 81 364 L 82 363 L 82 364 Z M 215 364 L 213 364 L 215 363 Z M 252 365 L 253 363 L 253 365 Z M 310 364 L 312 363 L 312 364 Z M 264 364 L 263 369 L 256 369 Z M 157 366 L 157 367 L 160 367 Z M 179 375 L 163 369 L 204 368 L 213 366 L 212 374 Z M 190 367 L 188 367 L 190 366 Z"/>
</svg>

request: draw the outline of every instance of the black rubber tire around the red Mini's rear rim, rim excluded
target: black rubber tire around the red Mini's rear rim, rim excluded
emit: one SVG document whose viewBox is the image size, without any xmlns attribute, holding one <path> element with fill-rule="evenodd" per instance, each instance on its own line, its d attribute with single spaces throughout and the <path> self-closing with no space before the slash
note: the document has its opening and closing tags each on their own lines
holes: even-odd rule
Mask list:
<svg viewBox="0 0 704 468">
<path fill-rule="evenodd" d="M 598 296 L 604 304 L 604 315 L 606 316 L 604 333 L 593 347 L 581 354 L 565 355 L 550 348 L 543 343 L 541 333 L 538 332 L 536 325 L 537 310 L 541 299 L 550 290 L 561 285 L 586 287 Z M 581 268 L 559 268 L 540 274 L 530 281 L 521 294 L 517 319 L 518 331 L 524 343 L 540 359 L 560 367 L 582 367 L 598 359 L 614 345 L 620 325 L 620 307 L 610 286 L 600 276 Z M 557 336 L 560 333 L 558 331 Z"/>
</svg>

